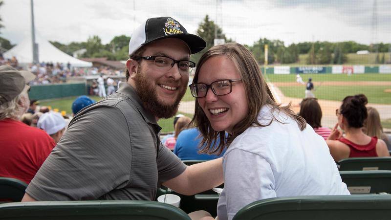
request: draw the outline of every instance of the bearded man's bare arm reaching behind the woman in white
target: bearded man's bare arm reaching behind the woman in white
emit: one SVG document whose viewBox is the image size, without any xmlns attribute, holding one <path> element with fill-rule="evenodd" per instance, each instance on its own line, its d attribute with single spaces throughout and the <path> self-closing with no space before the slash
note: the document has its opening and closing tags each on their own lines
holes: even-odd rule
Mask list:
<svg viewBox="0 0 391 220">
<path fill-rule="evenodd" d="M 222 158 L 218 158 L 188 166 L 182 174 L 163 182 L 163 185 L 183 195 L 194 195 L 223 182 Z"/>
</svg>

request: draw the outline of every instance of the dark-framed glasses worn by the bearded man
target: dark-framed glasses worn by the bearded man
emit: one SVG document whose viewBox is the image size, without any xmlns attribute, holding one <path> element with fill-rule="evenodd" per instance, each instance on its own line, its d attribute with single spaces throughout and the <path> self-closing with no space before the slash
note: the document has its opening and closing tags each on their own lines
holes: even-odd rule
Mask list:
<svg viewBox="0 0 391 220">
<path fill-rule="evenodd" d="M 190 72 L 195 66 L 195 63 L 190 60 L 174 60 L 173 58 L 166 56 L 146 56 L 136 58 L 135 60 L 141 59 L 153 61 L 157 67 L 164 71 L 170 70 L 174 64 L 178 64 L 178 68 L 181 72 Z"/>
</svg>

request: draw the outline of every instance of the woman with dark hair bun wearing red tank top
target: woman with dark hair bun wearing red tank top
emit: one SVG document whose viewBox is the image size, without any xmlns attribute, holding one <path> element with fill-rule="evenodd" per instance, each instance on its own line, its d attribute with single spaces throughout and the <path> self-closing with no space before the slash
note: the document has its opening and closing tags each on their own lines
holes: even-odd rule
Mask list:
<svg viewBox="0 0 391 220">
<path fill-rule="evenodd" d="M 368 99 L 364 94 L 347 96 L 339 109 L 335 111 L 338 123 L 326 142 L 335 161 L 348 157 L 390 156 L 386 143 L 366 135 L 362 128 L 368 117 L 365 105 Z M 345 131 L 345 136 L 338 130 Z"/>
</svg>

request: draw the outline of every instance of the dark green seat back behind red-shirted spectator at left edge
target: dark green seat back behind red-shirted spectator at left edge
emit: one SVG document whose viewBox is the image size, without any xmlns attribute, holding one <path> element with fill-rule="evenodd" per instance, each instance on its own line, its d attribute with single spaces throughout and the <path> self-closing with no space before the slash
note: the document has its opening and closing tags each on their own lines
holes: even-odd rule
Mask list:
<svg viewBox="0 0 391 220">
<path fill-rule="evenodd" d="M 26 187 L 19 179 L 0 177 L 0 203 L 21 201 Z"/>
</svg>

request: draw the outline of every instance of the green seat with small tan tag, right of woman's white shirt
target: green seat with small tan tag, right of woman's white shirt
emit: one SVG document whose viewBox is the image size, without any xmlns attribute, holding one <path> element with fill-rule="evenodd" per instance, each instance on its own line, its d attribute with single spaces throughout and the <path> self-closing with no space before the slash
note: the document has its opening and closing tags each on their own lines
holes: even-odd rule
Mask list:
<svg viewBox="0 0 391 220">
<path fill-rule="evenodd" d="M 350 194 L 391 193 L 391 171 L 340 171 Z"/>
</svg>

